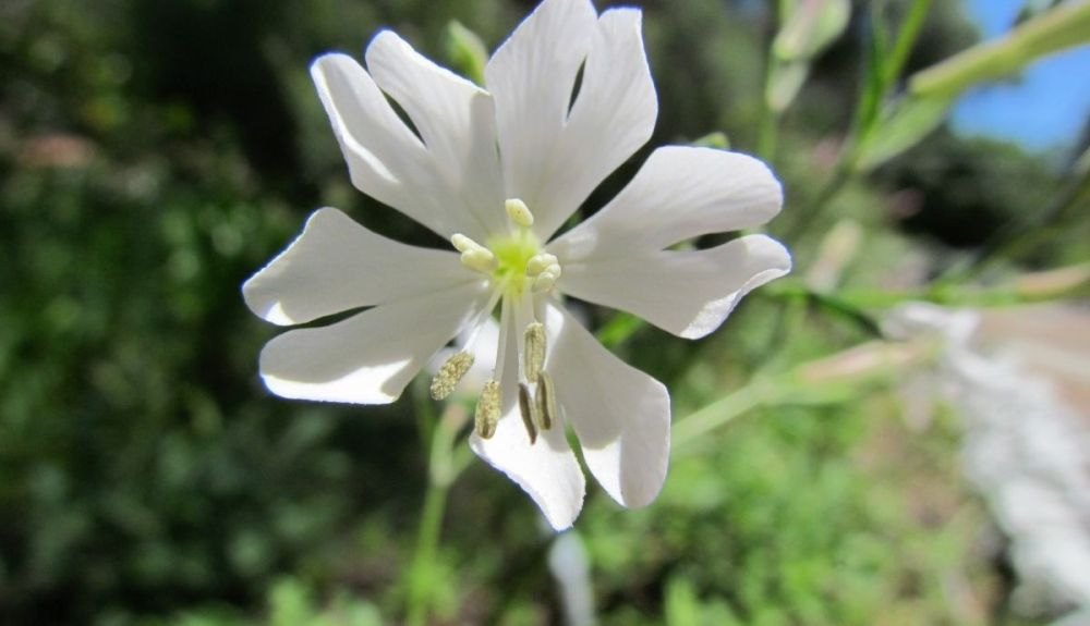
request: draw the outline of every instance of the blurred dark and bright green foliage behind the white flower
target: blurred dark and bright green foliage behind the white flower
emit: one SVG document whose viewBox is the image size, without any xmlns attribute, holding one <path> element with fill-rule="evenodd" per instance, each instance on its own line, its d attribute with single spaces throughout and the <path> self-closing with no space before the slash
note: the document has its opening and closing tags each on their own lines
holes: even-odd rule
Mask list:
<svg viewBox="0 0 1090 626">
<path fill-rule="evenodd" d="M 752 151 L 773 12 L 642 4 L 662 102 L 652 145 L 723 132 Z M 849 125 L 862 4 L 784 114 L 776 165 L 788 200 L 776 232 L 802 219 L 796 207 L 813 200 L 829 142 Z M 909 69 L 971 40 L 954 3 L 935 4 Z M 0 5 L 0 622 L 364 626 L 399 614 L 426 482 L 413 409 L 270 397 L 256 357 L 275 331 L 239 286 L 322 205 L 433 242 L 350 186 L 306 74 L 315 54 L 359 52 L 388 26 L 457 62 L 444 57 L 451 20 L 495 47 L 532 5 Z M 892 19 L 903 11 L 893 3 Z M 988 244 L 1050 201 L 1058 177 L 1014 147 L 941 132 L 848 185 L 788 244 L 812 258 L 828 228 L 852 218 L 869 262 L 844 281 L 882 289 Z M 1086 258 L 1086 222 L 1071 223 L 1058 245 L 1004 265 Z M 932 240 L 942 254 L 924 253 Z M 850 317 L 774 291 L 750 300 L 706 342 L 633 327 L 614 331 L 627 337 L 617 349 L 670 385 L 682 416 L 754 375 L 868 337 Z M 590 312 L 596 323 L 610 315 Z M 787 334 L 785 319 L 799 322 Z M 998 619 L 1007 581 L 958 478 L 956 421 L 910 431 L 900 414 L 888 390 L 761 409 L 678 451 L 649 510 L 592 492 L 578 529 L 602 622 Z M 444 532 L 438 622 L 559 619 L 542 566 L 549 537 L 517 488 L 473 465 Z"/>
</svg>

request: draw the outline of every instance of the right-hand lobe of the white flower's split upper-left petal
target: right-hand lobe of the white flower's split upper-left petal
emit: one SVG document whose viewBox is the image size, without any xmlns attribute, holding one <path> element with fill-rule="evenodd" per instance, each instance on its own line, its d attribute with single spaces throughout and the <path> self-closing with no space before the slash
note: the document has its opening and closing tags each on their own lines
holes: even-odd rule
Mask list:
<svg viewBox="0 0 1090 626">
<path fill-rule="evenodd" d="M 458 210 L 474 216 L 488 233 L 506 229 L 492 96 L 389 30 L 375 36 L 366 58 L 375 83 L 420 131 L 434 159 L 434 185 L 447 189 L 448 205 L 460 205 Z"/>
</svg>

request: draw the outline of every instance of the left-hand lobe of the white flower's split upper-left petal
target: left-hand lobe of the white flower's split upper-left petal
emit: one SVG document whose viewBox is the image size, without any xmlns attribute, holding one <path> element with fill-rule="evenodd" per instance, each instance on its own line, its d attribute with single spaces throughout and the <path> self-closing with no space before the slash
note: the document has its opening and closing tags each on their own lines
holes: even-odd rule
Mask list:
<svg viewBox="0 0 1090 626">
<path fill-rule="evenodd" d="M 485 238 L 480 221 L 448 201 L 434 157 L 354 59 L 326 54 L 311 65 L 311 76 L 356 188 L 444 237 Z"/>
</svg>

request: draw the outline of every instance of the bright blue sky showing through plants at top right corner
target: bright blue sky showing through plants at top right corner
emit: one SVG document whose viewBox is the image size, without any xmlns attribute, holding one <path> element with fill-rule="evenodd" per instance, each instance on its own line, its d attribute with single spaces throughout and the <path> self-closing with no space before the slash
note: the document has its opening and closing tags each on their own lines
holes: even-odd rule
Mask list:
<svg viewBox="0 0 1090 626">
<path fill-rule="evenodd" d="M 1024 0 L 967 0 L 988 39 L 1006 33 Z M 954 110 L 955 131 L 1017 142 L 1030 150 L 1069 147 L 1090 118 L 1090 46 L 1050 57 L 1020 77 L 969 91 Z"/>
</svg>

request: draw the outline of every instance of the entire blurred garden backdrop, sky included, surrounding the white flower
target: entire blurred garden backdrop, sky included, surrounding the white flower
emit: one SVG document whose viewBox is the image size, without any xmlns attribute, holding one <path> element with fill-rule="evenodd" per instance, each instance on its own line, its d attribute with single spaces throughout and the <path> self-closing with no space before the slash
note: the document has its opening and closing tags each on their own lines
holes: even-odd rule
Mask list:
<svg viewBox="0 0 1090 626">
<path fill-rule="evenodd" d="M 320 206 L 434 243 L 351 187 L 315 56 L 391 27 L 458 66 L 451 20 L 494 49 L 534 4 L 0 2 L 0 623 L 396 624 L 415 586 L 434 624 L 1090 624 L 1090 49 L 845 149 L 885 131 L 861 94 L 1078 2 L 844 3 L 774 62 L 813 2 L 625 2 L 661 116 L 585 210 L 651 147 L 729 142 L 784 182 L 795 274 L 697 343 L 588 308 L 671 390 L 664 492 L 589 486 L 557 541 L 474 462 L 410 576 L 443 407 L 272 397 L 240 285 Z"/>
</svg>

